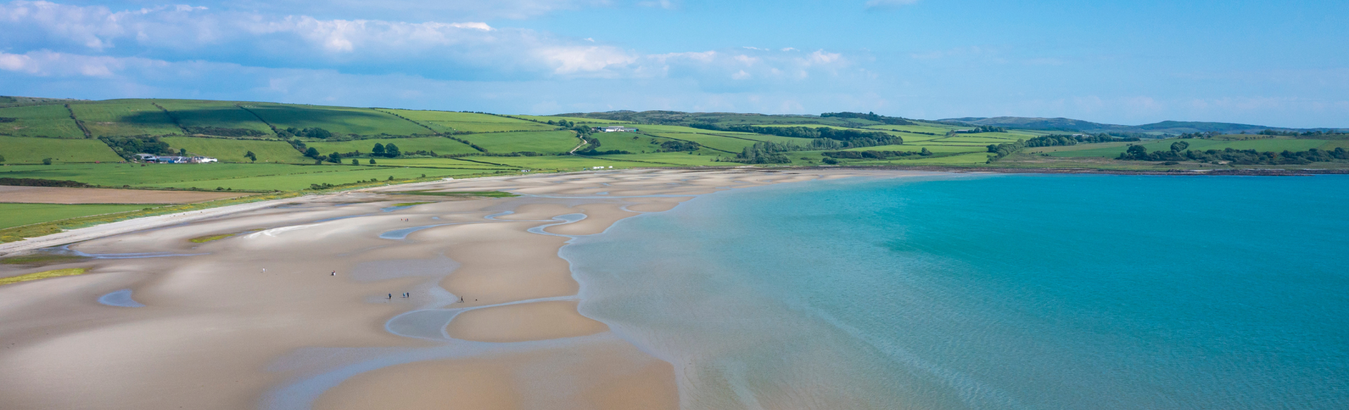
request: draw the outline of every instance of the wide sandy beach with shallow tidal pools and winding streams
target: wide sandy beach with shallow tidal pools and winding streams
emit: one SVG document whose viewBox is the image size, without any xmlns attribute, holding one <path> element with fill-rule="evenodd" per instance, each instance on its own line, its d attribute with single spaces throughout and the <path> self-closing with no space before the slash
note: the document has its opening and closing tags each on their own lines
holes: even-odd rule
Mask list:
<svg viewBox="0 0 1349 410">
<path fill-rule="evenodd" d="M 672 364 L 577 313 L 558 248 L 700 194 L 904 174 L 476 178 L 66 232 L 82 241 L 62 252 L 90 259 L 0 264 L 90 268 L 0 286 L 0 407 L 677 409 Z M 394 194 L 413 189 L 519 197 Z M 144 308 L 100 303 L 119 290 Z"/>
</svg>

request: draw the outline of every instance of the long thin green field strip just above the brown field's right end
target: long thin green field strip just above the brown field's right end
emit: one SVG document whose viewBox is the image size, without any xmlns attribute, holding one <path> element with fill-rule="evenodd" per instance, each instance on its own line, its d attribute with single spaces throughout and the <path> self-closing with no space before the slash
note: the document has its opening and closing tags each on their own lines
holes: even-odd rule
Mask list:
<svg viewBox="0 0 1349 410">
<path fill-rule="evenodd" d="M 289 175 L 262 175 L 244 178 L 197 179 L 182 182 L 152 183 L 154 187 L 201 187 L 201 189 L 239 189 L 239 190 L 301 190 L 310 183 L 355 183 L 370 179 L 384 181 L 409 179 L 426 177 L 457 177 L 468 174 L 494 173 L 491 170 L 452 170 L 452 169 L 420 169 L 420 167 L 379 167 L 379 166 L 312 166 L 322 171 L 289 174 Z"/>
</svg>

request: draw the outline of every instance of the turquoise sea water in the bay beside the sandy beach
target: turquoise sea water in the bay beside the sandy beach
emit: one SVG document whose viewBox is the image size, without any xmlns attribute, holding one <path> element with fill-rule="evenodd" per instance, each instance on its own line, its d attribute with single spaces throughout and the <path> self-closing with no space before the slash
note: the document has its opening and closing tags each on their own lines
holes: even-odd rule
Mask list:
<svg viewBox="0 0 1349 410">
<path fill-rule="evenodd" d="M 1349 409 L 1349 177 L 853 178 L 563 248 L 685 409 Z"/>
</svg>

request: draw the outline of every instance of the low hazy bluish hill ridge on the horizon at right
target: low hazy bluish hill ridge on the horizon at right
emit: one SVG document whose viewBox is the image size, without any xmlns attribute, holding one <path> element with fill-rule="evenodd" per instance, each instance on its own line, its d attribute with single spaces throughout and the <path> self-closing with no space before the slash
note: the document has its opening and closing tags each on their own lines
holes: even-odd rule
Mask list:
<svg viewBox="0 0 1349 410">
<path fill-rule="evenodd" d="M 1199 121 L 1160 121 L 1143 125 L 1117 125 L 1117 124 L 1101 124 L 1074 119 L 1041 119 L 1041 117 L 958 117 L 958 119 L 943 119 L 942 123 L 956 123 L 969 125 L 994 125 L 1004 128 L 1018 128 L 1018 129 L 1041 129 L 1041 131 L 1077 131 L 1077 132 L 1148 132 L 1148 134 L 1187 134 L 1187 132 L 1222 132 L 1222 134 L 1238 134 L 1238 132 L 1260 132 L 1264 129 L 1275 131 L 1313 131 L 1302 128 L 1284 128 L 1284 127 L 1268 127 L 1268 125 L 1252 125 L 1252 124 L 1233 124 L 1233 123 L 1199 123 Z M 1314 129 L 1329 129 L 1329 128 L 1314 128 Z"/>
</svg>

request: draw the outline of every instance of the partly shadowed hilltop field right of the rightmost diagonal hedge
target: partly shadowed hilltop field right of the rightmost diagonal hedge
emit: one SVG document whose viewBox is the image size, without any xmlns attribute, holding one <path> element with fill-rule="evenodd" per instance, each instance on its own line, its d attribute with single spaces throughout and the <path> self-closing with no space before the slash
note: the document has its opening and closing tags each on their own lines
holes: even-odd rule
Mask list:
<svg viewBox="0 0 1349 410">
<path fill-rule="evenodd" d="M 430 134 L 411 121 L 372 108 L 298 105 L 272 102 L 241 104 L 277 128 L 324 128 L 333 134 L 413 135 Z"/>
</svg>

